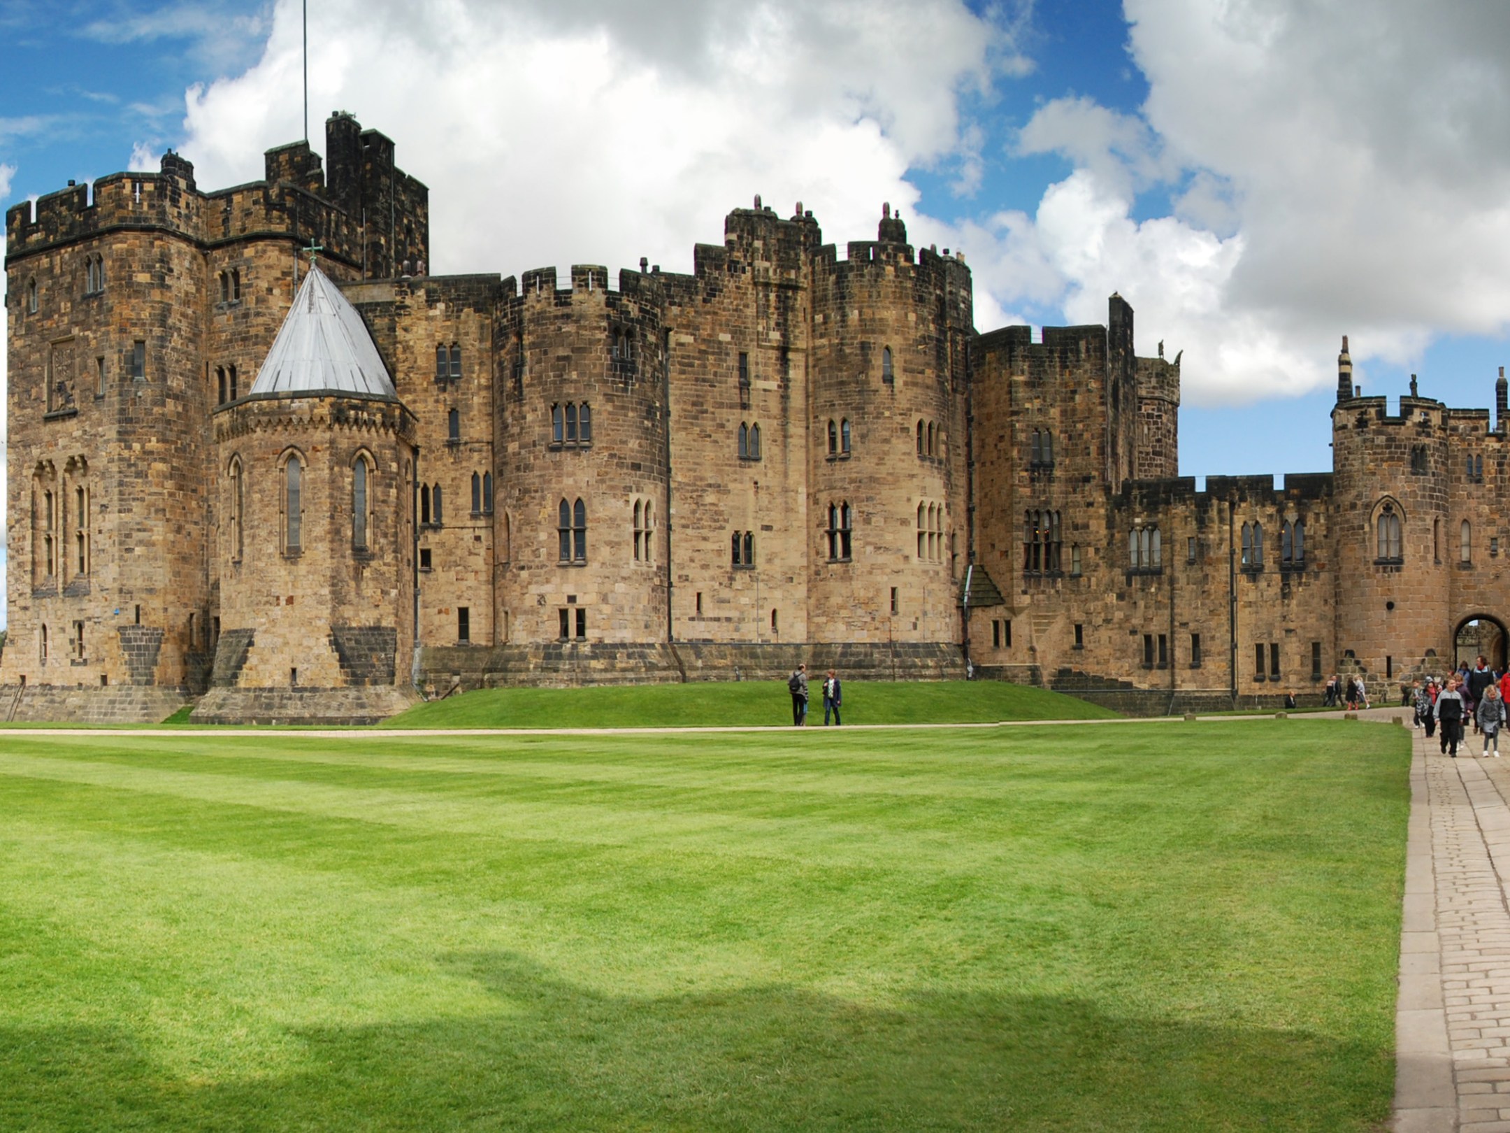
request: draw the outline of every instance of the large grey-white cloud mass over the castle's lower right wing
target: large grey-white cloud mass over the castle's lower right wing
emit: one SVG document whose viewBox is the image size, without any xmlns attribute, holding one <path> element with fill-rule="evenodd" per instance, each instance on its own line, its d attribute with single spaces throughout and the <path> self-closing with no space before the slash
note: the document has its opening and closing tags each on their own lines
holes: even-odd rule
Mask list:
<svg viewBox="0 0 1510 1133">
<path fill-rule="evenodd" d="M 1364 375 L 1439 334 L 1505 331 L 1502 9 L 1126 0 L 1126 15 L 1142 115 L 1059 100 L 1018 142 L 1077 166 L 1019 234 L 1060 276 L 1040 301 L 1092 314 L 1117 287 L 1188 349 L 1194 402 L 1326 387 L 1344 332 Z M 1137 222 L 1149 186 L 1173 215 Z"/>
</svg>

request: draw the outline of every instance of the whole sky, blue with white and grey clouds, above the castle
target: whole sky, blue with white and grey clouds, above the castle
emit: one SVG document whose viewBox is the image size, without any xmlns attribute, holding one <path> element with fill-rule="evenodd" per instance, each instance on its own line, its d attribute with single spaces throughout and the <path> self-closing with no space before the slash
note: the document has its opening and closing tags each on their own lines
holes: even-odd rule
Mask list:
<svg viewBox="0 0 1510 1133">
<path fill-rule="evenodd" d="M 1128 298 L 1140 353 L 1184 350 L 1193 476 L 1329 468 L 1342 334 L 1392 397 L 1490 405 L 1510 361 L 1501 5 L 310 8 L 316 147 L 332 109 L 396 139 L 438 272 L 687 270 L 755 193 L 843 246 L 891 201 L 983 331 Z M 302 131 L 297 0 L 0 0 L 0 95 L 8 204 L 168 147 L 252 180 Z"/>
</svg>

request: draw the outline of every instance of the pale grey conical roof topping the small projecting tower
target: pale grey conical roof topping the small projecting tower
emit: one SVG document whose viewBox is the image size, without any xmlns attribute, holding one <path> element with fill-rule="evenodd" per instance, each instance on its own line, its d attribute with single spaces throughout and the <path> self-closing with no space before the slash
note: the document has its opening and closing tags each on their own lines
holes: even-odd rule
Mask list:
<svg viewBox="0 0 1510 1133">
<path fill-rule="evenodd" d="M 279 393 L 399 399 L 362 317 L 319 267 L 304 276 L 252 382 L 252 397 Z"/>
</svg>

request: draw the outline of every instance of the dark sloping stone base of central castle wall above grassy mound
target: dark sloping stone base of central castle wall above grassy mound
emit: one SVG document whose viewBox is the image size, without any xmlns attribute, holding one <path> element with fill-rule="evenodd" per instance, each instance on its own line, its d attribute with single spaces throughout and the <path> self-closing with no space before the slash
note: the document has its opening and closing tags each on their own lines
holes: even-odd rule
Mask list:
<svg viewBox="0 0 1510 1133">
<path fill-rule="evenodd" d="M 420 656 L 420 683 L 445 692 L 500 686 L 571 687 L 580 684 L 666 684 L 672 681 L 785 680 L 799 662 L 821 674 L 830 668 L 855 680 L 963 680 L 965 660 L 957 645 L 722 645 L 676 642 L 667 645 L 607 645 L 602 642 L 550 642 L 426 648 Z"/>
</svg>

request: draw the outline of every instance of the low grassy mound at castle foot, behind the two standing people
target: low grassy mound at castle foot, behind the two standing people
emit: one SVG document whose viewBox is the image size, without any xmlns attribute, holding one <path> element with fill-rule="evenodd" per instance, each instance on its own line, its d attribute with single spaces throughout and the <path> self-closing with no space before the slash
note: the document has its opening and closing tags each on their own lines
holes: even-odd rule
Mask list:
<svg viewBox="0 0 1510 1133">
<path fill-rule="evenodd" d="M 1108 719 L 1089 701 L 1006 681 L 844 681 L 849 724 L 978 724 Z M 420 704 L 385 728 L 686 728 L 791 724 L 785 681 L 482 689 Z M 808 725 L 823 724 L 812 681 Z"/>
</svg>

